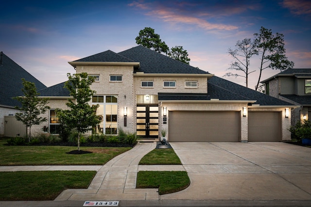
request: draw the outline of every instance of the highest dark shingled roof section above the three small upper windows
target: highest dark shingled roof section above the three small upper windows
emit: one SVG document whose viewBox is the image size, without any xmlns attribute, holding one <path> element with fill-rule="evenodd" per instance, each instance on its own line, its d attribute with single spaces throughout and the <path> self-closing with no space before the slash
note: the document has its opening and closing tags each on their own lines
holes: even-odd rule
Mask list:
<svg viewBox="0 0 311 207">
<path fill-rule="evenodd" d="M 141 45 L 124 50 L 118 54 L 135 62 L 140 62 L 140 68 L 135 69 L 134 73 L 209 74 L 204 70 L 182 63 Z"/>
</svg>

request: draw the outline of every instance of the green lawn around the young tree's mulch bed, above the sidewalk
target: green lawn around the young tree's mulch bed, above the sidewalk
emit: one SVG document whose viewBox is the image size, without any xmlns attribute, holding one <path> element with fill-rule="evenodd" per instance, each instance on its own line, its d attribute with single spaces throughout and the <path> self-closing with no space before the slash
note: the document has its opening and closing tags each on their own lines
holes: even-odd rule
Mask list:
<svg viewBox="0 0 311 207">
<path fill-rule="evenodd" d="M 69 146 L 7 146 L 0 140 L 0 165 L 104 165 L 110 159 L 126 152 L 131 147 L 80 147 L 93 153 L 71 155 L 77 150 Z"/>
</svg>

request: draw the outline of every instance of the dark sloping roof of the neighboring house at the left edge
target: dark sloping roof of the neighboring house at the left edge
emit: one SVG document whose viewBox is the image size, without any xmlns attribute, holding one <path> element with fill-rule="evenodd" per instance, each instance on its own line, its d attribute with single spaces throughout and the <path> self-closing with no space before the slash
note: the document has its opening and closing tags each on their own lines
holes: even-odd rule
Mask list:
<svg viewBox="0 0 311 207">
<path fill-rule="evenodd" d="M 20 102 L 12 97 L 23 95 L 22 78 L 34 82 L 37 90 L 46 88 L 43 83 L 0 52 L 0 136 L 4 135 L 4 116 L 14 115 L 18 112 L 14 107 L 21 106 Z"/>
</svg>

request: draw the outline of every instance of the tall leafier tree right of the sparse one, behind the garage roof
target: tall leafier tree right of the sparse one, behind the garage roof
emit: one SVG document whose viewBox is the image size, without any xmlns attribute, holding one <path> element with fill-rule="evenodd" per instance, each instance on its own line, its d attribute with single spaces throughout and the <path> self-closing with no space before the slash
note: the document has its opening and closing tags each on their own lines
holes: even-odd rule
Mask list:
<svg viewBox="0 0 311 207">
<path fill-rule="evenodd" d="M 261 27 L 259 33 L 255 33 L 254 36 L 254 44 L 260 58 L 259 78 L 255 86 L 255 90 L 257 91 L 264 69 L 286 70 L 294 67 L 294 62 L 288 61 L 285 56 L 283 34 L 276 32 L 276 35 L 274 35 L 271 30 Z"/>
</svg>

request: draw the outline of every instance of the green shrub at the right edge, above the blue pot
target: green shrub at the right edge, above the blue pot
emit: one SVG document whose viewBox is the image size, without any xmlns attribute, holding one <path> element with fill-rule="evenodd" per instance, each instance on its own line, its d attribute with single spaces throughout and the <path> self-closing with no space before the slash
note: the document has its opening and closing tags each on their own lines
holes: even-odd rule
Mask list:
<svg viewBox="0 0 311 207">
<path fill-rule="evenodd" d="M 289 130 L 292 133 L 292 140 L 301 142 L 302 139 L 311 139 L 311 122 L 309 120 L 303 120 L 303 123 L 297 122 Z"/>
</svg>

